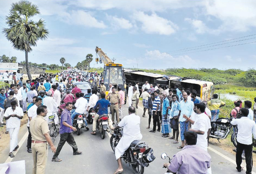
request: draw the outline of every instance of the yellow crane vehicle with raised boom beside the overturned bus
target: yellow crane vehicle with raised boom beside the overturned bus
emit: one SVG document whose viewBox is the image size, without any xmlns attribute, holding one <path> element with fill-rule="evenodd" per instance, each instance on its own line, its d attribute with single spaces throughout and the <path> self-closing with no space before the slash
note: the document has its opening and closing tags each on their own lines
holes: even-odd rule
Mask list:
<svg viewBox="0 0 256 174">
<path fill-rule="evenodd" d="M 104 83 L 106 86 L 106 96 L 109 92 L 109 83 L 117 88 L 119 86 L 125 93 L 125 103 L 126 103 L 126 83 L 123 72 L 123 65 L 114 63 L 107 55 L 102 51 L 101 48 L 96 47 L 96 62 L 104 63 L 104 70 L 100 76 L 100 83 Z"/>
</svg>

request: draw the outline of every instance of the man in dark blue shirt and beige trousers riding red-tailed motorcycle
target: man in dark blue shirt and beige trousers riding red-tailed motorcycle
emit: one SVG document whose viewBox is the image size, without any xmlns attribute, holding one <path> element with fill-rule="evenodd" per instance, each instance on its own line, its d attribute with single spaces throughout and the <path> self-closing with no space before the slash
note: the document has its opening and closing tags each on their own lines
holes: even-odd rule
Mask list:
<svg viewBox="0 0 256 174">
<path fill-rule="evenodd" d="M 106 94 L 102 93 L 101 94 L 101 100 L 98 100 L 94 109 L 99 109 L 99 111 L 97 112 L 97 114 L 95 114 L 94 119 L 93 119 L 93 131 L 92 131 L 92 135 L 96 135 L 96 124 L 97 124 L 97 120 L 103 116 L 104 114 L 108 115 L 108 107 L 110 107 L 110 102 L 109 100 L 105 99 Z M 112 119 L 110 119 L 108 117 L 108 125 L 109 128 L 112 129 L 113 128 L 113 122 Z"/>
</svg>

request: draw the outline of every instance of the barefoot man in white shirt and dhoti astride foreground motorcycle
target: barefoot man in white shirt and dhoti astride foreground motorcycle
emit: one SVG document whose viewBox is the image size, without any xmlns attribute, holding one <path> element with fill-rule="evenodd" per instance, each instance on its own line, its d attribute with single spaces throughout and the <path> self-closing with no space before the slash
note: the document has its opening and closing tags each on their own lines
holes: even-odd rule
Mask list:
<svg viewBox="0 0 256 174">
<path fill-rule="evenodd" d="M 115 158 L 118 163 L 118 168 L 115 174 L 123 172 L 123 166 L 121 161 L 121 156 L 130 147 L 131 143 L 135 140 L 141 140 L 142 135 L 140 131 L 141 118 L 135 115 L 135 108 L 129 107 L 129 116 L 123 117 L 120 123 L 112 129 L 119 129 L 123 127 L 123 136 L 115 147 Z"/>
</svg>

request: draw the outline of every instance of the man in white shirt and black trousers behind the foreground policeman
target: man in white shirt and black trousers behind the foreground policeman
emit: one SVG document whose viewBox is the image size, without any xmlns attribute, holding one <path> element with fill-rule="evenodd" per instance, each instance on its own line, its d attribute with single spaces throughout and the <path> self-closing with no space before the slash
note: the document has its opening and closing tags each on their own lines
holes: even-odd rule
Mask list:
<svg viewBox="0 0 256 174">
<path fill-rule="evenodd" d="M 33 99 L 34 100 L 34 99 Z M 35 104 L 31 106 L 31 108 L 28 109 L 27 111 L 27 116 L 28 116 L 28 122 L 27 122 L 27 129 L 28 129 L 28 137 L 27 137 L 27 152 L 32 153 L 31 150 L 31 143 L 32 143 L 32 137 L 29 129 L 29 122 L 37 116 L 36 114 L 36 109 L 42 105 L 42 99 L 41 98 L 36 98 L 35 99 Z"/>
</svg>

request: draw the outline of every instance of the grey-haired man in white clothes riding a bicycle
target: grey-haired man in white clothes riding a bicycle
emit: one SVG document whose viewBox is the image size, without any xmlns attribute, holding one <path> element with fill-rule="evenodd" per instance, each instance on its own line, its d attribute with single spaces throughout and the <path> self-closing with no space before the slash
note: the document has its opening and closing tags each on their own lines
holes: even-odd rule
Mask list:
<svg viewBox="0 0 256 174">
<path fill-rule="evenodd" d="M 60 106 L 57 104 L 57 102 L 53 99 L 53 97 L 50 97 L 52 96 L 52 91 L 48 91 L 47 92 L 47 95 L 48 97 L 45 97 L 43 99 L 43 103 L 44 105 L 47 107 L 47 115 L 45 117 L 45 120 L 47 121 L 47 123 L 51 122 L 51 120 L 49 120 L 49 116 L 52 116 L 54 115 L 54 123 L 55 125 L 58 124 L 59 122 L 59 118 L 58 118 L 58 115 L 57 115 L 57 111 L 60 109 L 60 110 L 63 110 L 60 108 Z"/>
</svg>

